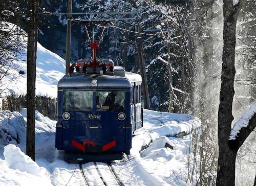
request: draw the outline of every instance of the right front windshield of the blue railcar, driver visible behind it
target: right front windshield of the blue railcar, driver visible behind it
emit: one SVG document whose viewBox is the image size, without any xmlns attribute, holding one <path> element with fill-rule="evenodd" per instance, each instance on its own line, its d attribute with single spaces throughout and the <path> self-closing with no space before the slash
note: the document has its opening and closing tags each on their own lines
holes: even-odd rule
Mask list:
<svg viewBox="0 0 256 186">
<path fill-rule="evenodd" d="M 124 111 L 125 91 L 96 91 L 97 111 Z"/>
</svg>

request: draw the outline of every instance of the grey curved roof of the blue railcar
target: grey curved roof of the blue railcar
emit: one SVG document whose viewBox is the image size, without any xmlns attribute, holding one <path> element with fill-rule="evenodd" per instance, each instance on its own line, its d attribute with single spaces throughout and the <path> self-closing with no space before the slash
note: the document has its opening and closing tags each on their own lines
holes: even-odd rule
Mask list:
<svg viewBox="0 0 256 186">
<path fill-rule="evenodd" d="M 92 86 L 92 80 L 97 80 L 97 87 L 131 87 L 131 82 L 141 82 L 141 76 L 124 72 L 123 68 L 115 67 L 114 76 L 99 74 L 74 73 L 65 75 L 58 82 L 58 87 Z"/>
</svg>

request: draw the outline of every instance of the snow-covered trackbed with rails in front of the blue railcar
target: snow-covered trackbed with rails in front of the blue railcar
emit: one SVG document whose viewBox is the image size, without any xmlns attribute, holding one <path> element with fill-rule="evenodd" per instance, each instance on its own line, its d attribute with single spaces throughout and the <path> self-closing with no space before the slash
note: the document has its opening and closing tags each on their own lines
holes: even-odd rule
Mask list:
<svg viewBox="0 0 256 186">
<path fill-rule="evenodd" d="M 58 168 L 53 178 L 54 185 L 162 185 L 148 173 L 133 156 L 124 157 L 115 163 L 88 162 Z M 120 176 L 120 177 L 119 177 Z M 121 178 L 121 179 L 120 179 Z M 124 182 L 123 182 L 124 181 Z"/>
</svg>

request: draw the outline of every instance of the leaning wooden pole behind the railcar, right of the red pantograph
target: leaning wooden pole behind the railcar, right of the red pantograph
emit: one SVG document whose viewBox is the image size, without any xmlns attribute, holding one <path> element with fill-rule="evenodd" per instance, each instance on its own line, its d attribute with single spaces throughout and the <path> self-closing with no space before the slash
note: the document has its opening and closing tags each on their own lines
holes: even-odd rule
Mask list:
<svg viewBox="0 0 256 186">
<path fill-rule="evenodd" d="M 135 26 L 135 31 L 140 32 L 139 25 Z M 138 50 L 138 60 L 140 64 L 140 75 L 142 77 L 142 93 L 143 93 L 143 102 L 144 108 L 150 109 L 150 97 L 148 96 L 148 86 L 147 86 L 147 78 L 146 78 L 146 70 L 145 70 L 145 58 L 142 47 L 143 39 L 141 37 L 136 38 L 136 45 Z"/>
</svg>

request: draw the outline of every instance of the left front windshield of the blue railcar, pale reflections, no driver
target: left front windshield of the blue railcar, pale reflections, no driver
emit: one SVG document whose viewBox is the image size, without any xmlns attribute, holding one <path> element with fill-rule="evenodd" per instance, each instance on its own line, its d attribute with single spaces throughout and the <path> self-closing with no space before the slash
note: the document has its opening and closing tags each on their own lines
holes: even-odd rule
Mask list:
<svg viewBox="0 0 256 186">
<path fill-rule="evenodd" d="M 63 110 L 90 111 L 93 109 L 92 91 L 65 90 L 63 98 Z"/>
</svg>

